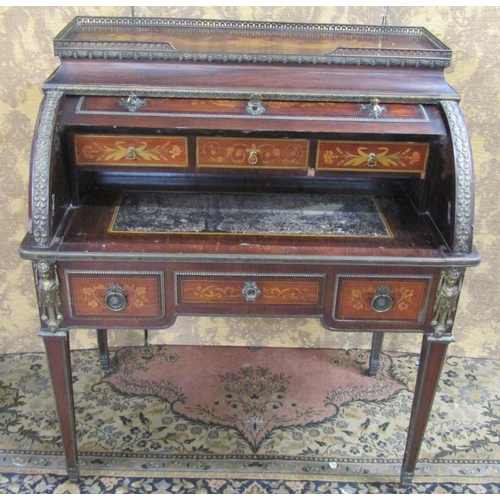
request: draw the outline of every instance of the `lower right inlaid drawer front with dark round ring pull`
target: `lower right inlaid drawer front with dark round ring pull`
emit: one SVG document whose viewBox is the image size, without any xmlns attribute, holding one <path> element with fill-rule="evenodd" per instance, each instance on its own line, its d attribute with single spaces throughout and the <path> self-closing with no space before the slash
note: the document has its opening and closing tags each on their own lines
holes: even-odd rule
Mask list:
<svg viewBox="0 0 500 500">
<path fill-rule="evenodd" d="M 340 321 L 421 322 L 432 276 L 342 276 L 336 278 L 334 318 Z"/>
</svg>

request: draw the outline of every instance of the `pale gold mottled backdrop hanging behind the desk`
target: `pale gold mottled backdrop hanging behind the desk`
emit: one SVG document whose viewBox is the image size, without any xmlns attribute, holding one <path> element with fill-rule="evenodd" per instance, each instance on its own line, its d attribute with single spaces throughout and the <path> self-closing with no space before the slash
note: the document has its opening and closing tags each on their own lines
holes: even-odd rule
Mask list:
<svg viewBox="0 0 500 500">
<path fill-rule="evenodd" d="M 26 232 L 31 136 L 40 84 L 56 68 L 52 38 L 76 15 L 196 17 L 425 26 L 453 51 L 449 83 L 462 95 L 476 169 L 475 242 L 480 267 L 468 271 L 450 353 L 500 358 L 500 8 L 497 7 L 3 7 L 0 9 L 0 353 L 40 351 L 31 266 L 17 252 Z M 388 334 L 385 348 L 418 351 L 420 336 Z M 111 332 L 111 345 L 143 333 Z M 151 342 L 368 347 L 363 334 L 333 333 L 315 319 L 179 318 Z M 95 347 L 91 331 L 73 348 Z"/>
</svg>

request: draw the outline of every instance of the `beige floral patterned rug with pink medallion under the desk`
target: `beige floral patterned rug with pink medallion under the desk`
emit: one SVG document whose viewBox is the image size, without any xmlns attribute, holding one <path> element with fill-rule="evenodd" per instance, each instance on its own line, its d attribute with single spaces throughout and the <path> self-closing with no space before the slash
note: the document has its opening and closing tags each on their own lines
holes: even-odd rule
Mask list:
<svg viewBox="0 0 500 500">
<path fill-rule="evenodd" d="M 368 357 L 127 347 L 112 353 L 105 374 L 96 351 L 75 351 L 82 482 L 70 485 L 44 355 L 0 356 L 0 492 L 42 483 L 54 492 L 397 491 L 418 356 L 384 353 L 376 378 L 366 375 Z M 408 491 L 496 491 L 499 368 L 495 360 L 446 360 Z"/>
</svg>

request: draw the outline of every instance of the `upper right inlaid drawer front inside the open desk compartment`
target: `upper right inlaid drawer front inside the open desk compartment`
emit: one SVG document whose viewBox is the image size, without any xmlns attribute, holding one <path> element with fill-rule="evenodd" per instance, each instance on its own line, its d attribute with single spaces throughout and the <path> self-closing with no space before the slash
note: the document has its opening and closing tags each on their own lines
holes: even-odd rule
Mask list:
<svg viewBox="0 0 500 500">
<path fill-rule="evenodd" d="M 429 144 L 318 141 L 318 170 L 425 172 Z"/>
</svg>

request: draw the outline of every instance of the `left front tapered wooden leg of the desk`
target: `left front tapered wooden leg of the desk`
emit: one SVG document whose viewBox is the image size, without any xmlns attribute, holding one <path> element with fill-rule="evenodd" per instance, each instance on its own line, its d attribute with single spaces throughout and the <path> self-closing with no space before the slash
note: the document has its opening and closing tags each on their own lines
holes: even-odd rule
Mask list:
<svg viewBox="0 0 500 500">
<path fill-rule="evenodd" d="M 52 387 L 56 399 L 57 416 L 66 457 L 66 470 L 71 482 L 79 476 L 78 452 L 76 447 L 76 419 L 71 378 L 71 359 L 68 332 L 41 330 L 39 334 L 45 343 Z"/>
</svg>

